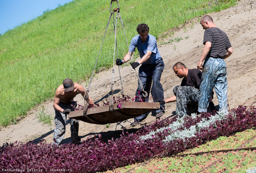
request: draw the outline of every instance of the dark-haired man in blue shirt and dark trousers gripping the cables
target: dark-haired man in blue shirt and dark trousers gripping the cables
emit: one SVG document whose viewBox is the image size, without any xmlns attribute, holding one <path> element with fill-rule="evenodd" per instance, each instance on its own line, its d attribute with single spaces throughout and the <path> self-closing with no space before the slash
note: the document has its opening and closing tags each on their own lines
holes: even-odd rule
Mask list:
<svg viewBox="0 0 256 173">
<path fill-rule="evenodd" d="M 157 99 L 163 100 L 163 87 L 160 83 L 160 78 L 164 69 L 164 63 L 160 53 L 158 52 L 157 40 L 154 36 L 148 34 L 149 27 L 147 24 L 139 24 L 137 26 L 137 32 L 138 35 L 135 36 L 131 41 L 129 52 L 124 56 L 122 60 L 117 59 L 116 63 L 117 65 L 122 65 L 123 63 L 129 61 L 130 57 L 135 51 L 135 48 L 137 47 L 140 59 L 139 61 L 132 62 L 130 64 L 133 69 L 142 64 L 139 67 L 139 78 L 141 80 L 144 90 L 149 94 L 151 88 L 151 95 L 154 101 Z M 136 96 L 136 102 L 139 102 L 141 99 L 143 100 L 143 102 L 148 102 L 148 97 L 145 98 L 142 95 L 139 82 Z M 156 113 L 156 118 L 160 118 L 161 116 L 163 116 L 164 104 L 160 105 L 160 109 L 157 110 Z M 139 122 L 146 117 L 147 114 L 144 114 L 138 118 L 135 118 L 132 126 L 138 125 Z"/>
</svg>

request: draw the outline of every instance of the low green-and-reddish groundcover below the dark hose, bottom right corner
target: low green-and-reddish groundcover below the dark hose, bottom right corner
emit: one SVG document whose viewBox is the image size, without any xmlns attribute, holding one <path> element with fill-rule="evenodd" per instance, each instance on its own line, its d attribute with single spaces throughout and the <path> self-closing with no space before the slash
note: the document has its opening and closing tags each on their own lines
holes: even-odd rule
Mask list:
<svg viewBox="0 0 256 173">
<path fill-rule="evenodd" d="M 136 167 L 131 173 L 144 172 L 244 172 L 255 173 L 256 150 L 207 153 L 203 155 L 155 158 L 146 165 Z M 203 168 L 216 162 L 203 171 Z M 109 171 L 110 172 L 110 171 Z"/>
</svg>

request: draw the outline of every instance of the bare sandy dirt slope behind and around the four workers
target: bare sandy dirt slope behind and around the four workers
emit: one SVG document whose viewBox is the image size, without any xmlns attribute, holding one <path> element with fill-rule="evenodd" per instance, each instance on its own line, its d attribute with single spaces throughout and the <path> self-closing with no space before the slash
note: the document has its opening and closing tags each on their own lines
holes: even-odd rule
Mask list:
<svg viewBox="0 0 256 173">
<path fill-rule="evenodd" d="M 227 80 L 228 80 L 228 102 L 230 109 L 239 105 L 255 104 L 256 100 L 256 1 L 241 0 L 235 7 L 223 10 L 217 13 L 209 14 L 217 27 L 222 29 L 229 37 L 233 47 L 233 54 L 227 58 Z M 180 61 L 184 63 L 188 69 L 197 68 L 197 63 L 203 51 L 203 27 L 199 23 L 200 18 L 195 18 L 187 22 L 184 26 L 174 30 L 174 35 L 171 38 L 166 37 L 158 41 L 160 55 L 165 63 L 165 68 L 161 77 L 161 84 L 164 88 L 164 98 L 173 96 L 173 87 L 180 85 L 181 79 L 175 76 L 172 66 Z M 124 21 L 125 22 L 125 21 Z M 182 38 L 179 42 L 167 43 L 171 39 Z M 163 42 L 166 42 L 163 44 Z M 118 67 L 115 66 L 115 96 L 120 94 L 120 79 Z M 138 71 L 139 68 L 137 68 Z M 135 71 L 131 66 L 122 66 L 120 68 L 124 87 L 124 94 L 131 97 L 135 96 L 138 87 L 138 79 Z M 110 92 L 110 84 L 112 78 L 112 69 L 101 71 L 95 75 L 90 97 L 96 103 L 102 103 L 105 98 L 108 98 Z M 60 84 L 62 81 L 60 81 Z M 87 89 L 86 83 L 82 86 Z M 83 104 L 81 95 L 75 97 L 79 104 Z M 216 95 L 213 102 L 218 105 Z M 54 116 L 53 99 L 43 103 L 48 114 Z M 23 118 L 15 125 L 0 128 L 0 144 L 6 142 L 38 142 L 42 139 L 47 143 L 52 143 L 53 131 L 55 128 L 54 122 L 51 126 L 42 125 L 36 119 L 36 114 L 40 111 L 41 106 L 32 109 L 28 112 L 26 118 Z M 176 103 L 165 105 L 165 114 L 162 118 L 168 118 L 175 115 Z M 46 112 L 45 110 L 45 112 Z M 156 113 L 152 112 L 139 125 L 131 127 L 133 119 L 128 119 L 119 123 L 112 123 L 107 128 L 106 125 L 95 125 L 80 121 L 79 136 L 85 140 L 90 135 L 101 134 L 103 139 L 117 138 L 122 134 L 122 130 L 136 132 L 139 128 L 153 123 L 156 120 Z M 66 134 L 63 143 L 69 143 L 70 137 L 69 121 L 66 125 Z"/>
</svg>

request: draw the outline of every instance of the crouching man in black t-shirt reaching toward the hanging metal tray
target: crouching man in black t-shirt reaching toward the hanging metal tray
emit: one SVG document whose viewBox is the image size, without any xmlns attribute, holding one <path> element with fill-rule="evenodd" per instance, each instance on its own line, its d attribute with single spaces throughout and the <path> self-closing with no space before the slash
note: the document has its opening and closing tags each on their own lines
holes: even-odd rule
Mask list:
<svg viewBox="0 0 256 173">
<path fill-rule="evenodd" d="M 156 102 L 165 104 L 176 101 L 176 116 L 180 117 L 183 117 L 187 113 L 186 109 L 191 113 L 197 112 L 202 71 L 198 69 L 187 69 L 181 62 L 174 64 L 173 71 L 176 76 L 183 78 L 181 86 L 175 86 L 173 88 L 174 96 L 166 100 L 156 100 Z M 212 98 L 210 98 L 209 106 L 211 111 L 216 109 L 212 102 Z"/>
</svg>

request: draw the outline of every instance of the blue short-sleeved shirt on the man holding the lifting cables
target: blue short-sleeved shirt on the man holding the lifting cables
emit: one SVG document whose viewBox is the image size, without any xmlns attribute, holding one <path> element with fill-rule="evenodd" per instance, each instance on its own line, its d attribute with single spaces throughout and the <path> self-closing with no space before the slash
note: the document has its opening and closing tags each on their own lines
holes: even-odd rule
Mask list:
<svg viewBox="0 0 256 173">
<path fill-rule="evenodd" d="M 143 62 L 142 64 L 154 64 L 160 60 L 162 60 L 162 57 L 160 53 L 158 52 L 157 48 L 157 40 L 154 36 L 148 34 L 148 37 L 144 43 L 142 43 L 141 38 L 139 37 L 139 34 L 135 36 L 130 44 L 129 51 L 134 52 L 135 48 L 137 47 L 139 51 L 139 56 L 142 58 L 147 51 L 151 51 L 152 54 L 150 55 L 150 58 Z"/>
</svg>

